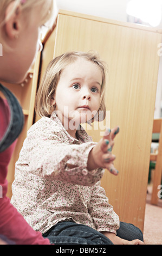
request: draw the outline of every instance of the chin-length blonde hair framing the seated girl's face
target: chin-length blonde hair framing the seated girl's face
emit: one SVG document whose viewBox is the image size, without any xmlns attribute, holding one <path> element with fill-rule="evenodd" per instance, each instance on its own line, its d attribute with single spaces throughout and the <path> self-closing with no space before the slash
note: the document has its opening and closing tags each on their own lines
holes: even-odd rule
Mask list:
<svg viewBox="0 0 162 256">
<path fill-rule="evenodd" d="M 101 119 L 105 119 L 106 64 L 100 60 L 98 54 L 94 52 L 67 52 L 51 60 L 43 76 L 40 87 L 38 88 L 36 96 L 35 109 L 40 117 L 50 117 L 51 113 L 55 110 L 54 106 L 51 106 L 51 99 L 55 95 L 61 72 L 68 64 L 74 63 L 77 58 L 85 58 L 86 60 L 93 62 L 102 72 L 102 85 L 98 116 L 99 113 L 101 113 L 100 111 L 102 111 L 103 115 L 102 118 L 100 116 L 100 121 Z"/>
</svg>

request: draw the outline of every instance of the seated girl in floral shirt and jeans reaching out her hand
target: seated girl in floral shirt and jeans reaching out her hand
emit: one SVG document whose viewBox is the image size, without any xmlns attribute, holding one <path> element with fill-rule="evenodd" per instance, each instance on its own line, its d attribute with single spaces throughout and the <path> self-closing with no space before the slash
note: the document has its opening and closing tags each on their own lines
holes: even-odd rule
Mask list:
<svg viewBox="0 0 162 256">
<path fill-rule="evenodd" d="M 38 90 L 42 118 L 28 131 L 16 163 L 12 204 L 51 243 L 143 243 L 138 228 L 119 223 L 100 186 L 102 168 L 118 174 L 112 148 L 119 127 L 95 143 L 80 126 L 105 112 L 104 94 L 103 62 L 82 52 L 52 60 Z"/>
</svg>

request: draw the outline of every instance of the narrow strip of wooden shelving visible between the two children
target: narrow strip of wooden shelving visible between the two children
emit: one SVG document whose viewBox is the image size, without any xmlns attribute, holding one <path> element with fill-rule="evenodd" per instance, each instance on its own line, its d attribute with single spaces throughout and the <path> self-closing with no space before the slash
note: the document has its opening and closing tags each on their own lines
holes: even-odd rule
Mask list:
<svg viewBox="0 0 162 256">
<path fill-rule="evenodd" d="M 14 95 L 17 97 L 24 113 L 24 127 L 20 136 L 18 137 L 16 147 L 8 168 L 7 196 L 9 198 L 11 198 L 12 196 L 11 185 L 14 181 L 15 163 L 18 160 L 18 156 L 23 146 L 24 139 L 27 137 L 27 131 L 29 130 L 30 126 L 33 125 L 35 96 L 37 90 L 38 72 L 40 69 L 40 57 L 41 53 L 38 53 L 33 68 L 28 72 L 28 76 L 22 84 L 9 84 L 1 82 L 5 87 L 11 90 L 11 92 L 14 93 Z"/>
</svg>

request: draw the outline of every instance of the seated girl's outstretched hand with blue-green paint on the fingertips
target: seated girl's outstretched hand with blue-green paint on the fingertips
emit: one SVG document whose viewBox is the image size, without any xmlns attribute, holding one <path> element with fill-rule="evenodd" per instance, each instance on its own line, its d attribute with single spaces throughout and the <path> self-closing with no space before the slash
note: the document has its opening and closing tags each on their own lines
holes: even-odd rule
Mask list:
<svg viewBox="0 0 162 256">
<path fill-rule="evenodd" d="M 115 127 L 112 131 L 107 130 L 103 138 L 98 144 L 90 151 L 88 157 L 88 170 L 96 168 L 106 168 L 114 175 L 118 175 L 118 170 L 115 169 L 113 161 L 115 156 L 112 155 L 112 149 L 114 145 L 114 138 L 119 132 L 119 127 Z"/>
</svg>

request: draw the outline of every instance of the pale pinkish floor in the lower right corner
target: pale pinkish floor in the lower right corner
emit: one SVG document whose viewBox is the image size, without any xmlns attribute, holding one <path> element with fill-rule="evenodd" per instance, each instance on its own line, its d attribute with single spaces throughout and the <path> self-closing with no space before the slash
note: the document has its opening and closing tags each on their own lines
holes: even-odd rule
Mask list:
<svg viewBox="0 0 162 256">
<path fill-rule="evenodd" d="M 144 242 L 146 245 L 162 245 L 162 199 L 158 205 L 151 202 L 152 186 L 148 185 L 145 221 L 144 221 Z"/>
</svg>

